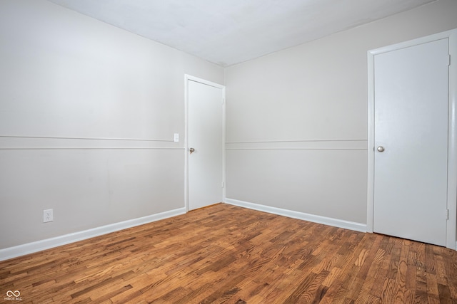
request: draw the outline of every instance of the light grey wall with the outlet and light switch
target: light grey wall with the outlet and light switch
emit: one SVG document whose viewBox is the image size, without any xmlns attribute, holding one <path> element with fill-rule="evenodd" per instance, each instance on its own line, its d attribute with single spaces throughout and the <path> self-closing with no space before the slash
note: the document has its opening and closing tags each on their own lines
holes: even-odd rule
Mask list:
<svg viewBox="0 0 457 304">
<path fill-rule="evenodd" d="M 0 249 L 184 209 L 184 74 L 222 68 L 43 0 L 0 41 Z"/>
</svg>

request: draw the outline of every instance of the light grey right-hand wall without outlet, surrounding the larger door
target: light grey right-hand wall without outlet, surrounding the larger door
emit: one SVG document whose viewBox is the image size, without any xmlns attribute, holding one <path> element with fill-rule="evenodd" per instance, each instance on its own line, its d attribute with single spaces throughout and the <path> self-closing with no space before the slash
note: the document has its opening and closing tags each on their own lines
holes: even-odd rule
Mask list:
<svg viewBox="0 0 457 304">
<path fill-rule="evenodd" d="M 367 51 L 456 16 L 440 0 L 226 68 L 227 198 L 366 224 Z"/>
</svg>

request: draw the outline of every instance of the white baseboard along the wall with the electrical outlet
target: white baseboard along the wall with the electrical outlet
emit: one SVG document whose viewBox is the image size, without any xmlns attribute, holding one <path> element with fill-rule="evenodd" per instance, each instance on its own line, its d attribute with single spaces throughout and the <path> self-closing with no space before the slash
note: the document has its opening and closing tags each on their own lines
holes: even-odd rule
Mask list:
<svg viewBox="0 0 457 304">
<path fill-rule="evenodd" d="M 106 226 L 96 227 L 89 230 L 78 231 L 72 234 L 65 234 L 63 236 L 56 236 L 51 239 L 35 241 L 32 243 L 25 243 L 23 245 L 0 249 L 0 261 L 8 260 L 9 258 L 16 258 L 24 256 L 29 253 L 54 248 L 57 246 L 65 245 L 67 243 L 74 243 L 85 239 L 93 238 L 94 236 L 101 236 L 102 234 L 109 234 L 114 231 L 131 228 L 143 224 L 148 224 L 153 221 L 161 219 L 168 219 L 172 216 L 185 214 L 186 208 L 179 208 L 170 211 L 161 212 L 159 214 L 152 214 L 150 216 L 140 217 L 138 219 L 130 219 L 128 221 L 121 221 L 119 223 L 109 224 Z"/>
</svg>

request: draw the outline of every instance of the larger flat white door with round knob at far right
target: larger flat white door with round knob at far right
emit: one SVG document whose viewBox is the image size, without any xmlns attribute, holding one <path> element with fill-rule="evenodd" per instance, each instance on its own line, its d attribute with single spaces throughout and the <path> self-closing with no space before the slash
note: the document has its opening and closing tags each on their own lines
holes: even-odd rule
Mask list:
<svg viewBox="0 0 457 304">
<path fill-rule="evenodd" d="M 446 246 L 448 39 L 374 56 L 373 231 Z"/>
</svg>

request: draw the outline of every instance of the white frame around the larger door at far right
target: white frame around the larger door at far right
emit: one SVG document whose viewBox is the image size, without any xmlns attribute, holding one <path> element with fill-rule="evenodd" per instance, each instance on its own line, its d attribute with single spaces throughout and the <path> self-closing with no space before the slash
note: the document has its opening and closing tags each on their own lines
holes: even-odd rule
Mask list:
<svg viewBox="0 0 457 304">
<path fill-rule="evenodd" d="M 451 56 L 448 79 L 448 221 L 446 224 L 446 247 L 457 250 L 457 29 L 368 51 L 368 204 L 366 230 L 373 232 L 374 216 L 374 56 L 443 38 L 448 38 Z M 443 218 L 446 218 L 446 214 L 443 214 Z"/>
</svg>

